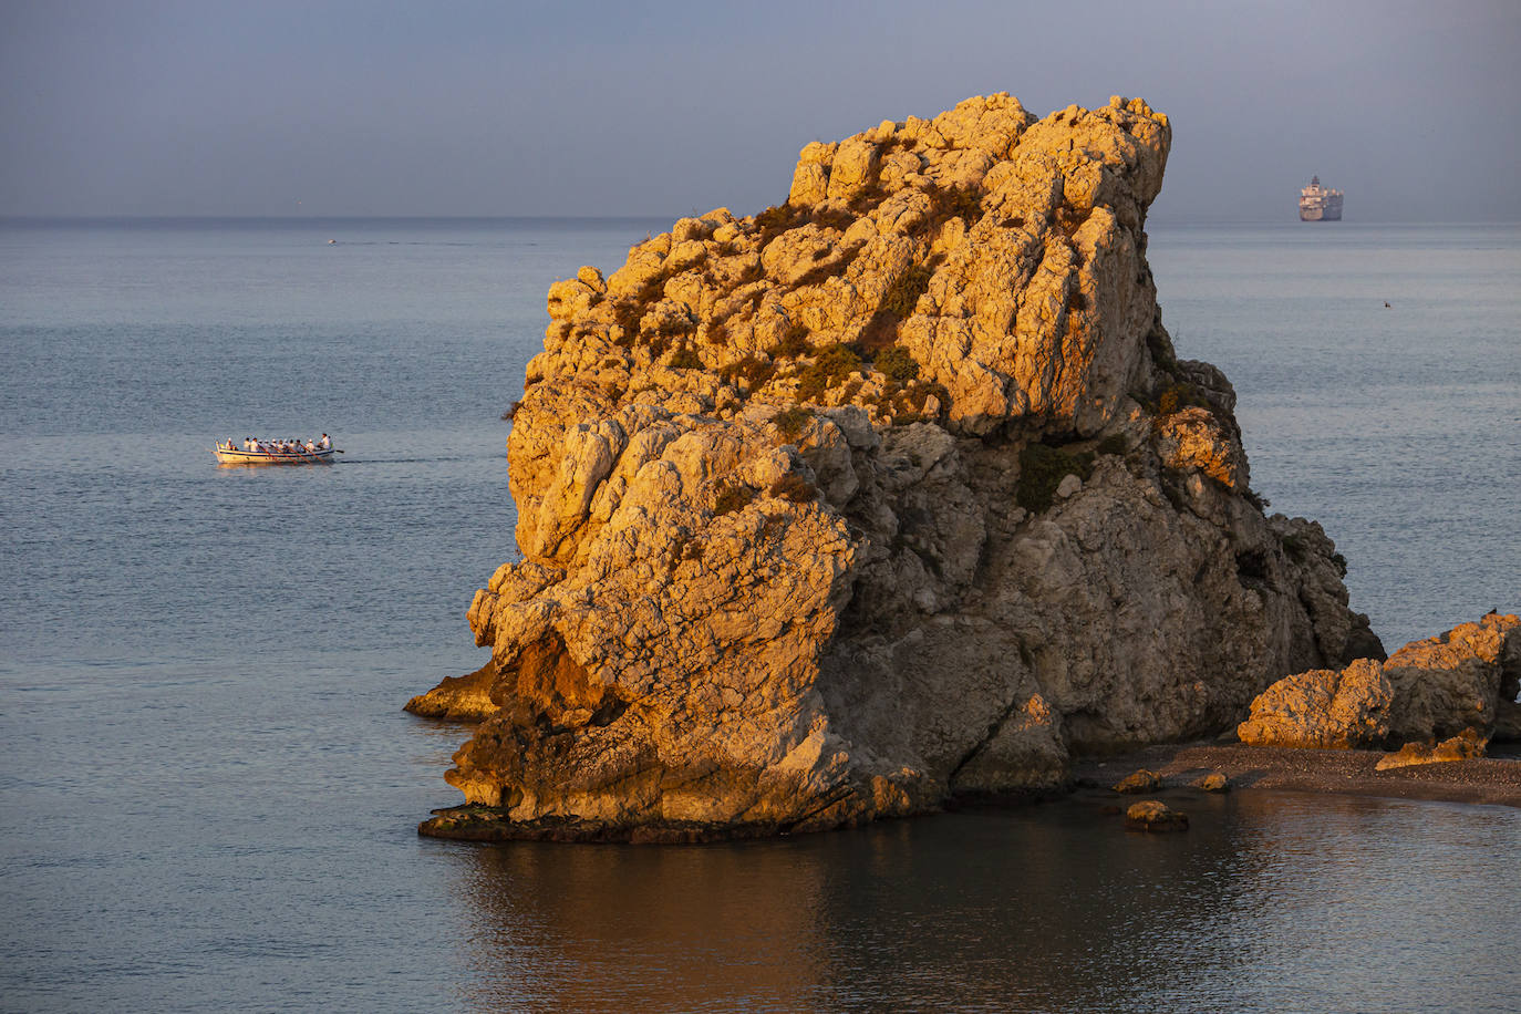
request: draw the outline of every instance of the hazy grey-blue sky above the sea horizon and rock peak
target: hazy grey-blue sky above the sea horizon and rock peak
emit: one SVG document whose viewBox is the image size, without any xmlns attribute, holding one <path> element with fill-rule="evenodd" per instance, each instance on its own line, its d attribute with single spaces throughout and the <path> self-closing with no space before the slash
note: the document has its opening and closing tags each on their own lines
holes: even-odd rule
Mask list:
<svg viewBox="0 0 1521 1014">
<path fill-rule="evenodd" d="M 659 214 L 1008 91 L 1173 120 L 1162 220 L 1521 220 L 1521 3 L 0 0 L 0 214 Z"/>
</svg>

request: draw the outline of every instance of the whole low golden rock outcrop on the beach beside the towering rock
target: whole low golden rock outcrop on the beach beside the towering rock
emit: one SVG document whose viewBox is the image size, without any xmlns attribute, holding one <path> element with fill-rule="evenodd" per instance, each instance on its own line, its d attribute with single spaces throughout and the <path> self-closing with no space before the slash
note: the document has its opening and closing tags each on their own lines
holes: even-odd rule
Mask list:
<svg viewBox="0 0 1521 1014">
<path fill-rule="evenodd" d="M 1384 663 L 1284 677 L 1237 727 L 1244 743 L 1357 749 L 1431 743 L 1474 731 L 1509 737 L 1521 689 L 1521 619 L 1489 613 L 1410 642 Z M 1430 749 L 1430 746 L 1427 746 Z"/>
</svg>

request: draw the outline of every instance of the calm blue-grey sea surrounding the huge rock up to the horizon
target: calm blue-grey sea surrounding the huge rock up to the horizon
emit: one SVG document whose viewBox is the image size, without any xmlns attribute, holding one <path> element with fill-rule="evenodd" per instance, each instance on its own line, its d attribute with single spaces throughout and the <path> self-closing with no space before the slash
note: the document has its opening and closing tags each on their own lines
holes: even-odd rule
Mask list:
<svg viewBox="0 0 1521 1014">
<path fill-rule="evenodd" d="M 1515 1011 L 1521 810 L 1238 792 L 418 838 L 548 286 L 669 219 L 0 222 L 0 1009 Z M 1150 227 L 1390 649 L 1521 611 L 1521 227 Z M 333 467 L 213 441 L 332 433 Z"/>
</svg>

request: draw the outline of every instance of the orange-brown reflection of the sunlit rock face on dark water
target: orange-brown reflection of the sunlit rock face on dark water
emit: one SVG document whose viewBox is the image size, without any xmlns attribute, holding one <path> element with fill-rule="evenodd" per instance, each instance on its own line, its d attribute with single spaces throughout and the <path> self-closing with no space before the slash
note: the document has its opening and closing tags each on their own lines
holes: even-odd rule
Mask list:
<svg viewBox="0 0 1521 1014">
<path fill-rule="evenodd" d="M 823 990 L 824 863 L 742 847 L 465 848 L 481 903 L 472 1008 L 808 1009 Z"/>
</svg>

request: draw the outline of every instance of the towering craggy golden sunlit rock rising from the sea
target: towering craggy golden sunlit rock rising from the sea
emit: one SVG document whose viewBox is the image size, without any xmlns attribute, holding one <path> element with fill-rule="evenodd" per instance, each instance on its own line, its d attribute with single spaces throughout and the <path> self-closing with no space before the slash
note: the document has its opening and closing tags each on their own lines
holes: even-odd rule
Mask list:
<svg viewBox="0 0 1521 1014">
<path fill-rule="evenodd" d="M 1145 260 L 1171 128 L 969 99 L 549 290 L 459 836 L 821 829 L 1060 786 L 1381 657 Z"/>
</svg>

